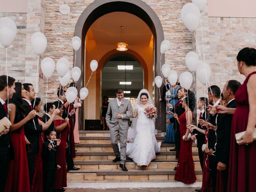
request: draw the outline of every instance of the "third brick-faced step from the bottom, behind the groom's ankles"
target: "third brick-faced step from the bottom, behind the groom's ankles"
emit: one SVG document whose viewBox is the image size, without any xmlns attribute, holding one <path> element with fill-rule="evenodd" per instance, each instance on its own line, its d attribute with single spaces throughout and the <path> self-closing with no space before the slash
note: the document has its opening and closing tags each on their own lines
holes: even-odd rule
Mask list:
<svg viewBox="0 0 256 192">
<path fill-rule="evenodd" d="M 192 152 L 193 159 L 198 158 L 198 152 Z M 156 159 L 174 159 L 176 152 L 161 151 L 156 153 Z M 114 152 L 110 151 L 84 151 L 76 152 L 74 160 L 113 160 L 115 158 Z"/>
</svg>

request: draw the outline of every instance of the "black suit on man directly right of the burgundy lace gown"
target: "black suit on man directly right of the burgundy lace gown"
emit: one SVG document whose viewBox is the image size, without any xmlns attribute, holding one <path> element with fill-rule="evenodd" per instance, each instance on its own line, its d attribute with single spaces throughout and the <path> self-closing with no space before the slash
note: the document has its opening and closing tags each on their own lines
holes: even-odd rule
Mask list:
<svg viewBox="0 0 256 192">
<path fill-rule="evenodd" d="M 202 114 L 201 118 L 199 118 L 199 119 L 205 120 L 205 111 Z M 206 117 L 206 119 L 207 119 L 207 117 Z M 206 129 L 205 127 L 202 127 L 199 123 L 198 123 L 197 127 L 202 130 Z M 202 134 L 201 132 L 197 131 L 196 129 L 194 129 L 193 133 L 197 134 L 196 140 L 197 140 L 198 156 L 199 156 L 199 160 L 200 160 L 200 166 L 203 170 L 204 153 L 202 151 L 202 145 L 205 143 L 205 134 Z"/>
</svg>

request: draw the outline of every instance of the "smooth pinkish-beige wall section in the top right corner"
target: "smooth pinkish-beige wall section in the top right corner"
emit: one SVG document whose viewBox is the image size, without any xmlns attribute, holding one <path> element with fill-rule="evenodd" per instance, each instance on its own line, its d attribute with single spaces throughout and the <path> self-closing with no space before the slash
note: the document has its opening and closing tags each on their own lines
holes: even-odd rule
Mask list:
<svg viewBox="0 0 256 192">
<path fill-rule="evenodd" d="M 209 17 L 256 17 L 256 0 L 208 0 Z"/>
</svg>

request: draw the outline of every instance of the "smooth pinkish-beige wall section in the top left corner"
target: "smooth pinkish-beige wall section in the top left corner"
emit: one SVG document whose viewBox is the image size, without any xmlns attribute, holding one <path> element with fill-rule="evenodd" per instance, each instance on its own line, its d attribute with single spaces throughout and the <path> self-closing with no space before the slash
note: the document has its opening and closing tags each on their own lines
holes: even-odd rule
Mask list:
<svg viewBox="0 0 256 192">
<path fill-rule="evenodd" d="M 0 12 L 27 13 L 28 0 L 0 0 Z"/>
</svg>

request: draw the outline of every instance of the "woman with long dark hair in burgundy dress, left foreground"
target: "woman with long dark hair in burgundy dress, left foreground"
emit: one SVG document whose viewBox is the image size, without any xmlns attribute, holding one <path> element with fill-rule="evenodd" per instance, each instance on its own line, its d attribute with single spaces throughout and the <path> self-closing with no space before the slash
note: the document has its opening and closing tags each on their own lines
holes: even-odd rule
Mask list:
<svg viewBox="0 0 256 192">
<path fill-rule="evenodd" d="M 10 109 L 10 138 L 14 148 L 14 159 L 10 162 L 10 169 L 6 182 L 5 192 L 18 191 L 30 192 L 28 176 L 28 160 L 26 155 L 25 134 L 23 125 L 36 115 L 32 110 L 25 117 L 25 111 L 21 107 L 22 96 L 25 94 L 23 85 L 20 82 L 15 83 L 15 91 L 8 108 Z M 27 140 L 28 142 L 28 140 Z"/>
</svg>

